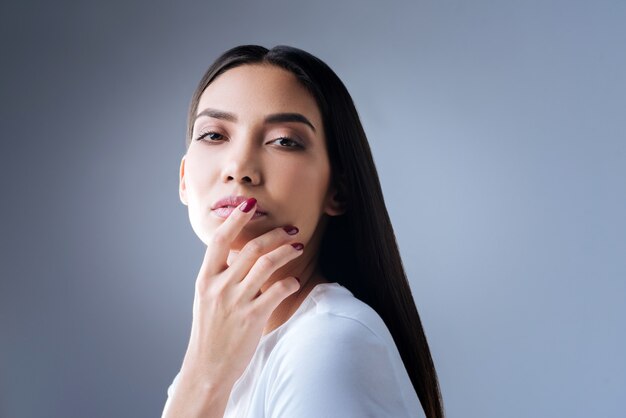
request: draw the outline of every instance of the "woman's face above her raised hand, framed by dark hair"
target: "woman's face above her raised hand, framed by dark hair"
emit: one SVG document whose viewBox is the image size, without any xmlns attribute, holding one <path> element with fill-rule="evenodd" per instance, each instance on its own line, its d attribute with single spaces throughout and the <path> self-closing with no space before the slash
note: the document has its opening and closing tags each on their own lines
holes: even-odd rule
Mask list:
<svg viewBox="0 0 626 418">
<path fill-rule="evenodd" d="M 243 65 L 213 80 L 196 116 L 181 161 L 179 192 L 198 237 L 207 244 L 224 221 L 211 209 L 218 200 L 254 197 L 265 214 L 247 224 L 231 250 L 276 227 L 294 225 L 306 256 L 307 243 L 317 243 L 323 232 L 316 234 L 324 214 L 340 213 L 313 96 L 282 68 Z"/>
</svg>

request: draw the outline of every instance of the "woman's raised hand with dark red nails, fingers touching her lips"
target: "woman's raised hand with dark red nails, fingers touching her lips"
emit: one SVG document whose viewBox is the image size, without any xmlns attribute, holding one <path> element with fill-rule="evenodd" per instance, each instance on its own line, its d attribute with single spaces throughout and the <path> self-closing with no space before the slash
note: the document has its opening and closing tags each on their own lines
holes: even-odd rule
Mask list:
<svg viewBox="0 0 626 418">
<path fill-rule="evenodd" d="M 227 264 L 230 246 L 254 215 L 255 206 L 251 198 L 233 210 L 207 245 L 181 368 L 181 378 L 187 376 L 209 388 L 221 385 L 227 392 L 250 363 L 274 309 L 300 286 L 295 277 L 286 277 L 261 292 L 277 269 L 303 253 L 291 245 L 293 237 L 283 228 L 249 241 Z"/>
</svg>

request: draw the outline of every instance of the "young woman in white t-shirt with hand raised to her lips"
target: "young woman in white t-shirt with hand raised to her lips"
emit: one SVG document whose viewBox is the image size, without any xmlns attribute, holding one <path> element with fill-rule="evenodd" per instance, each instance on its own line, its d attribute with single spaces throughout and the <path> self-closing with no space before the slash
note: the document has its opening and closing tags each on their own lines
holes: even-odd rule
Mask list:
<svg viewBox="0 0 626 418">
<path fill-rule="evenodd" d="M 163 417 L 443 417 L 352 99 L 297 48 L 243 45 L 188 116 L 180 199 L 206 244 Z"/>
</svg>

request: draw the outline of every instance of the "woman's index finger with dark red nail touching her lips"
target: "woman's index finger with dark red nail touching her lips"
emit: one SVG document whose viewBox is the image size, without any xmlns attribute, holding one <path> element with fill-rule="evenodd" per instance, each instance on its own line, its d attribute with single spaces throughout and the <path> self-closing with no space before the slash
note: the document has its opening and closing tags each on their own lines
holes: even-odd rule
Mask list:
<svg viewBox="0 0 626 418">
<path fill-rule="evenodd" d="M 203 269 L 208 274 L 217 274 L 228 267 L 226 263 L 230 245 L 243 227 L 254 216 L 256 199 L 251 197 L 237 206 L 224 222 L 217 227 L 204 254 Z"/>
</svg>

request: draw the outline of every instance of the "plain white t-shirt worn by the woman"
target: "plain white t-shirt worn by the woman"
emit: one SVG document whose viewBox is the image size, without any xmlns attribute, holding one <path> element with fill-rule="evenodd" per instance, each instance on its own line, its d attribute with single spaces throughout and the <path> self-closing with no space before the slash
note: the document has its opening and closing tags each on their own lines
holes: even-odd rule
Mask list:
<svg viewBox="0 0 626 418">
<path fill-rule="evenodd" d="M 284 324 L 261 337 L 224 418 L 334 417 L 424 412 L 383 320 L 333 282 L 317 284 Z"/>
</svg>

